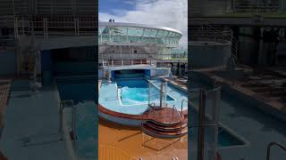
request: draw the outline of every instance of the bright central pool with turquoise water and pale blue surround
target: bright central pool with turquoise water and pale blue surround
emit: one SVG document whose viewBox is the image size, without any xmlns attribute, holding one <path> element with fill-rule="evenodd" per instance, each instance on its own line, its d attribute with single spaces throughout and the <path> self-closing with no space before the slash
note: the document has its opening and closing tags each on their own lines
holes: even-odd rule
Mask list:
<svg viewBox="0 0 286 160">
<path fill-rule="evenodd" d="M 151 89 L 151 98 L 158 104 L 159 88 L 162 83 L 161 80 L 149 80 L 153 85 Z M 118 93 L 118 86 L 122 87 Z M 187 93 L 167 84 L 166 103 L 168 107 L 181 110 L 181 101 L 188 100 Z M 120 95 L 118 95 L 120 94 Z M 138 79 L 117 79 L 108 84 L 103 80 L 99 91 L 98 103 L 114 112 L 129 114 L 129 115 L 142 115 L 148 109 L 148 84 L 147 80 L 143 78 Z M 182 109 L 188 109 L 188 105 L 183 103 Z"/>
</svg>

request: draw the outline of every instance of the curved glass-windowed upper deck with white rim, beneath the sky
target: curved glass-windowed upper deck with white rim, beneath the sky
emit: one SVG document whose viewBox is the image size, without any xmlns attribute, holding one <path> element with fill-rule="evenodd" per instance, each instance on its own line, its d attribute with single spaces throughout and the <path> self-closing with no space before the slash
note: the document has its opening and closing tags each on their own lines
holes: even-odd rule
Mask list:
<svg viewBox="0 0 286 160">
<path fill-rule="evenodd" d="M 173 28 L 115 22 L 100 22 L 98 34 L 99 43 L 163 44 L 170 47 L 177 46 L 182 36 Z"/>
</svg>

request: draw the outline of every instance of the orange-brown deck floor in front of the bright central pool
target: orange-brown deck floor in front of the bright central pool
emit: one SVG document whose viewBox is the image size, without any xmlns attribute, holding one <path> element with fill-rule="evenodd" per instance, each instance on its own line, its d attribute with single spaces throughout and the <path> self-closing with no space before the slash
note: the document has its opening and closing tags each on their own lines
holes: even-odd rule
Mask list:
<svg viewBox="0 0 286 160">
<path fill-rule="evenodd" d="M 179 139 L 164 140 L 143 134 L 139 128 L 130 128 L 99 118 L 99 159 L 122 157 L 123 160 L 163 160 L 178 157 L 188 159 L 188 135 Z"/>
</svg>

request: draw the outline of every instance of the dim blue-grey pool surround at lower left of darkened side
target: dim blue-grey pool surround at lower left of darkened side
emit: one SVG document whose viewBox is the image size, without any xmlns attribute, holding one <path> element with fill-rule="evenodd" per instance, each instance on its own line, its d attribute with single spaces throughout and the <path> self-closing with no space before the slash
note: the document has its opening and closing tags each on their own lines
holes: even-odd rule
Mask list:
<svg viewBox="0 0 286 160">
<path fill-rule="evenodd" d="M 4 113 L 0 150 L 8 159 L 70 159 L 58 132 L 55 88 L 30 92 L 29 81 L 15 80 Z"/>
</svg>

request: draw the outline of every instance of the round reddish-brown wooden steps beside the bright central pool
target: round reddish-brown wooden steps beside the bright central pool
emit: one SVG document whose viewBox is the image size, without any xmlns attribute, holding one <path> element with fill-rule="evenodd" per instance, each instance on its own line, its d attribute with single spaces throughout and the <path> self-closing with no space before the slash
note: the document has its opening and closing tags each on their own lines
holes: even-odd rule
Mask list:
<svg viewBox="0 0 286 160">
<path fill-rule="evenodd" d="M 152 120 L 142 124 L 142 130 L 150 136 L 167 139 L 179 138 L 188 133 L 188 115 L 181 114 L 175 108 L 151 110 L 149 114 L 153 115 Z"/>
</svg>

